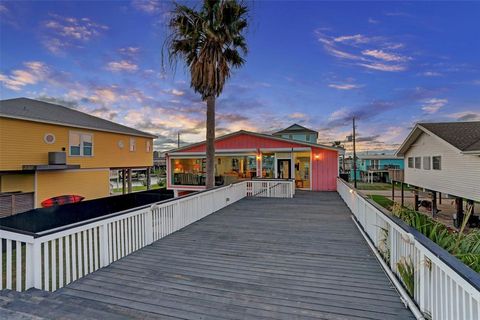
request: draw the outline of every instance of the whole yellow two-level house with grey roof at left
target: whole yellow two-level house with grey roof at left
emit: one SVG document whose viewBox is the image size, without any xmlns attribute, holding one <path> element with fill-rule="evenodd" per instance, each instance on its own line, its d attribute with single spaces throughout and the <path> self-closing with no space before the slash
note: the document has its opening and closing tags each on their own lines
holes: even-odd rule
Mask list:
<svg viewBox="0 0 480 320">
<path fill-rule="evenodd" d="M 28 207 L 30 201 L 35 208 L 62 195 L 106 197 L 110 170 L 124 170 L 125 177 L 132 168 L 153 165 L 154 138 L 52 103 L 1 100 L 0 210 L 9 205 L 2 195 L 20 199 L 29 194 L 31 200 L 26 197 L 18 205 Z"/>
</svg>

